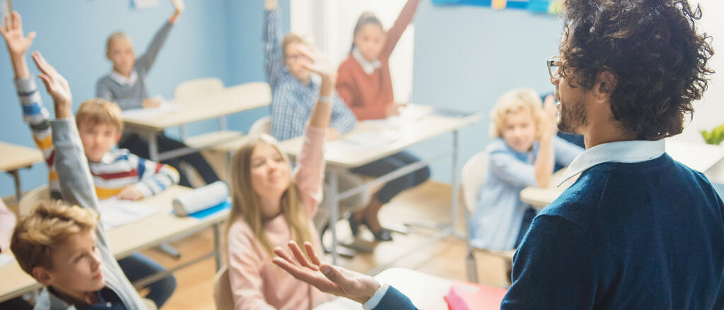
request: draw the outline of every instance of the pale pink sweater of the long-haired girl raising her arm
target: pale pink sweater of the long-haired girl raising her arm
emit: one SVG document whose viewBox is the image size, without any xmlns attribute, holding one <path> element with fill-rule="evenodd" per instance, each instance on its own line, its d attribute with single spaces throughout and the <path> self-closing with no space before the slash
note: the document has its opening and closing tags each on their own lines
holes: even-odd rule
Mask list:
<svg viewBox="0 0 724 310">
<path fill-rule="evenodd" d="M 308 127 L 302 151 L 297 157 L 294 173 L 303 206 L 307 210 L 308 229 L 317 253 L 321 253 L 319 233 L 312 218 L 322 198 L 324 180 L 324 129 Z M 272 248 L 282 246 L 292 238 L 283 215 L 264 224 Z M 332 296 L 296 280 L 271 262 L 264 246 L 256 240 L 249 226 L 237 220 L 229 229 L 228 262 L 235 310 L 312 309 Z"/>
</svg>

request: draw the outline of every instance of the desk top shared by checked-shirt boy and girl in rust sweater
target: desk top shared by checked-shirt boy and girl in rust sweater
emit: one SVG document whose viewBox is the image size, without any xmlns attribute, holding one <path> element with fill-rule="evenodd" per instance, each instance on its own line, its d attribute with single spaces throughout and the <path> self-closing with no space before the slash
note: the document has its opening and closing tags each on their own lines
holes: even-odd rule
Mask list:
<svg viewBox="0 0 724 310">
<path fill-rule="evenodd" d="M 360 121 L 352 132 L 348 132 L 343 136 L 350 137 L 363 132 L 375 132 L 381 136 L 384 134 L 393 134 L 395 139 L 387 145 L 355 150 L 338 147 L 339 145 L 335 145 L 334 142 L 327 142 L 327 147 L 324 152 L 324 160 L 327 160 L 327 165 L 338 168 L 354 168 L 365 165 L 366 163 L 371 163 L 380 158 L 400 152 L 417 142 L 458 130 L 480 119 L 479 114 L 463 117 L 441 116 L 434 113 L 431 107 L 415 106 L 415 108 L 421 110 L 426 109 L 428 113 L 421 113 L 423 116 L 416 119 L 398 119 L 395 122 L 385 120 Z M 300 152 L 302 142 L 301 137 L 296 137 L 282 142 L 280 147 L 282 152 L 286 152 L 288 155 L 294 157 Z"/>
</svg>

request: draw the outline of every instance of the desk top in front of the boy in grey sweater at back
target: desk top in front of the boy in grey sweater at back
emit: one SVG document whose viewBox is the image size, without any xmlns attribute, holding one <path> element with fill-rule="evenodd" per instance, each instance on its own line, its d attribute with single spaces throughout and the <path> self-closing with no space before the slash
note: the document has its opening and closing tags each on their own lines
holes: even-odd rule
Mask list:
<svg viewBox="0 0 724 310">
<path fill-rule="evenodd" d="M 263 82 L 227 87 L 201 97 L 174 100 L 175 108 L 163 117 L 151 119 L 124 117 L 125 126 L 135 132 L 161 132 L 173 126 L 214 119 L 251 110 L 271 103 L 271 90 Z"/>
</svg>

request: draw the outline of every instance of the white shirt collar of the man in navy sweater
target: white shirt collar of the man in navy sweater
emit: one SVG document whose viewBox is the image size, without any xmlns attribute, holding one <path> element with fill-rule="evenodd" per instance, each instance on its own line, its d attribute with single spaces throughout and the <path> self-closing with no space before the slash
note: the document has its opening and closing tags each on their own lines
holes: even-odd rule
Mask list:
<svg viewBox="0 0 724 310">
<path fill-rule="evenodd" d="M 599 163 L 641 163 L 659 158 L 665 152 L 664 139 L 657 141 L 618 141 L 591 147 L 568 165 L 557 186 Z"/>
</svg>

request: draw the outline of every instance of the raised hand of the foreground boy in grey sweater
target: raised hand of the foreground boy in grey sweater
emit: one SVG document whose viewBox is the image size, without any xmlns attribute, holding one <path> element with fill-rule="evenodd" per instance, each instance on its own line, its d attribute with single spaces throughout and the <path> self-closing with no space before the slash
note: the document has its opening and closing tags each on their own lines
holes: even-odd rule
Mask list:
<svg viewBox="0 0 724 310">
<path fill-rule="evenodd" d="M 53 98 L 55 104 L 55 117 L 57 119 L 65 119 L 72 117 L 73 113 L 70 111 L 70 104 L 72 103 L 72 95 L 70 93 L 70 85 L 68 81 L 60 75 L 56 69 L 46 61 L 40 52 L 30 54 L 33 56 L 33 61 L 38 69 L 41 70 L 41 74 L 38 75 L 46 85 L 48 94 Z"/>
</svg>

